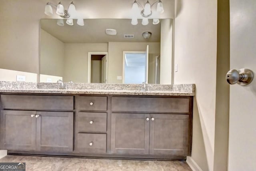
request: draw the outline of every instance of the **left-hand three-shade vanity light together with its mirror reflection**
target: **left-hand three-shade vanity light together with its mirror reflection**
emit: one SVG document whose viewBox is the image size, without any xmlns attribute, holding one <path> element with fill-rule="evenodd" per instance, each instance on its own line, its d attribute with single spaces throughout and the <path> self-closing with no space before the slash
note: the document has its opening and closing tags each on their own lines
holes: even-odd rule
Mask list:
<svg viewBox="0 0 256 171">
<path fill-rule="evenodd" d="M 79 26 L 84 26 L 84 20 L 82 19 L 82 17 L 80 17 L 78 15 L 78 13 L 76 11 L 76 6 L 74 5 L 73 2 L 71 2 L 70 5 L 68 6 L 68 10 L 64 9 L 64 6 L 61 4 L 61 2 L 59 2 L 58 5 L 47 2 L 46 6 L 44 8 L 44 13 L 46 15 L 48 15 L 48 16 L 53 15 L 52 6 L 56 8 L 56 14 L 58 14 L 61 18 L 67 19 L 66 24 L 72 26 L 73 25 L 73 18 L 78 18 L 77 24 Z M 72 18 L 70 18 L 70 16 Z M 64 20 L 63 19 L 58 19 L 57 24 L 59 26 L 64 26 Z"/>
</svg>

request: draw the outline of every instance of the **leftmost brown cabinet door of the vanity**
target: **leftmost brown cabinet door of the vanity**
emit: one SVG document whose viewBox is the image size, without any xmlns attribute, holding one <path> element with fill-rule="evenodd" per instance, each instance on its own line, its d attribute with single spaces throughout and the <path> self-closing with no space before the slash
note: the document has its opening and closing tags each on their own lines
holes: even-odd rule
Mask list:
<svg viewBox="0 0 256 171">
<path fill-rule="evenodd" d="M 36 150 L 36 111 L 0 111 L 1 149 Z"/>
</svg>

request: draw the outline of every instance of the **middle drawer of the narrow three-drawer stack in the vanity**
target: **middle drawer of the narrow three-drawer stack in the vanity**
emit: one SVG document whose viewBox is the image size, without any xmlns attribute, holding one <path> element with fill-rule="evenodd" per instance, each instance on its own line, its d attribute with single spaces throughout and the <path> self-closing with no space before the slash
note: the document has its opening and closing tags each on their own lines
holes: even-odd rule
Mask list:
<svg viewBox="0 0 256 171">
<path fill-rule="evenodd" d="M 78 132 L 106 132 L 107 113 L 78 112 Z"/>
</svg>

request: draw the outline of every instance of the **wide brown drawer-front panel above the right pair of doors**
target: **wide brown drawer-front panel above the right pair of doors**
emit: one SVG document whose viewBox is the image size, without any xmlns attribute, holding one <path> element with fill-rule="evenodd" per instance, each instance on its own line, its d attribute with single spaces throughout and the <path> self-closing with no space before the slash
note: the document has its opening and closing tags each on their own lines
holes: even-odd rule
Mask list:
<svg viewBox="0 0 256 171">
<path fill-rule="evenodd" d="M 112 111 L 189 113 L 189 98 L 112 97 Z"/>
</svg>

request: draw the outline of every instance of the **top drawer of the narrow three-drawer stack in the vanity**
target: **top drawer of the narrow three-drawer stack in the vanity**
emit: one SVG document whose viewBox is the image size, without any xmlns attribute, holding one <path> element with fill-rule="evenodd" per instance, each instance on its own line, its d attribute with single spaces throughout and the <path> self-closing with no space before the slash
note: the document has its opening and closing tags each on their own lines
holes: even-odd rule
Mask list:
<svg viewBox="0 0 256 171">
<path fill-rule="evenodd" d="M 77 107 L 79 110 L 107 110 L 107 97 L 78 96 Z"/>
</svg>

